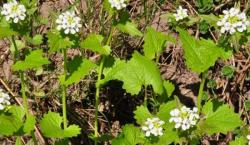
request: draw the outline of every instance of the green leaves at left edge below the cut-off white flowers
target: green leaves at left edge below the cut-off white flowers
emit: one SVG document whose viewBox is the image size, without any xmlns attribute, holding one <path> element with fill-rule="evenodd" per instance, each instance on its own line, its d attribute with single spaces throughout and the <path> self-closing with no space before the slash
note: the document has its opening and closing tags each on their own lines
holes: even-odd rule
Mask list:
<svg viewBox="0 0 250 145">
<path fill-rule="evenodd" d="M 32 115 L 28 115 L 24 120 L 24 115 L 24 109 L 19 106 L 11 106 L 8 112 L 1 113 L 0 134 L 6 136 L 30 134 L 34 130 L 36 120 Z"/>
</svg>

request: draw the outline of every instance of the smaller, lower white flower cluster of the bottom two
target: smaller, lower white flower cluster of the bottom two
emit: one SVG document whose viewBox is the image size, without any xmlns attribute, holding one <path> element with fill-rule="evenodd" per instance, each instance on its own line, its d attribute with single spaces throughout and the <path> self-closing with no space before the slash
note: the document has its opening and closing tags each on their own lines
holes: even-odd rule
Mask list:
<svg viewBox="0 0 250 145">
<path fill-rule="evenodd" d="M 163 128 L 162 125 L 165 122 L 160 120 L 157 117 L 148 118 L 147 121 L 142 126 L 142 130 L 145 132 L 145 135 L 149 137 L 151 134 L 154 136 L 161 136 L 163 135 Z"/>
</svg>

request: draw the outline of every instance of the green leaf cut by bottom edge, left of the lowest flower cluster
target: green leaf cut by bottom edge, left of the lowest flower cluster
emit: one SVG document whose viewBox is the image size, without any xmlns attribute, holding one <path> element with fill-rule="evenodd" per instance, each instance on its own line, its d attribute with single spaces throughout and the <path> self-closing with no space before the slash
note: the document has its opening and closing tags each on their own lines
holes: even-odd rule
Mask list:
<svg viewBox="0 0 250 145">
<path fill-rule="evenodd" d="M 122 133 L 112 140 L 112 145 L 136 145 L 144 141 L 144 135 L 139 128 L 134 125 L 125 125 Z"/>
</svg>

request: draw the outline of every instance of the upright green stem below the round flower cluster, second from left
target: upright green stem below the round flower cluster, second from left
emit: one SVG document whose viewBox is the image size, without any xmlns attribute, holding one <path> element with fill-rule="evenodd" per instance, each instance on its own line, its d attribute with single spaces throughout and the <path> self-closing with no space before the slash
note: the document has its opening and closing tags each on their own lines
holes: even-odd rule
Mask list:
<svg viewBox="0 0 250 145">
<path fill-rule="evenodd" d="M 63 50 L 64 58 L 64 75 L 67 76 L 67 50 Z M 63 109 L 63 128 L 67 128 L 67 110 L 66 110 L 67 86 L 62 86 L 62 109 Z"/>
</svg>

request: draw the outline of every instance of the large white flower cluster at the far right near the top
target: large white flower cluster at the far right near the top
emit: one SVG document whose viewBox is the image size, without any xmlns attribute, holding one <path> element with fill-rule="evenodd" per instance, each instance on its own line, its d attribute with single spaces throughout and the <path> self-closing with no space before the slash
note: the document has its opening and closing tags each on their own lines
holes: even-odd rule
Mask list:
<svg viewBox="0 0 250 145">
<path fill-rule="evenodd" d="M 230 10 L 223 11 L 224 16 L 217 22 L 217 25 L 221 27 L 220 32 L 229 32 L 234 34 L 236 31 L 243 32 L 247 30 L 249 21 L 246 14 L 240 12 L 239 9 L 231 8 Z"/>
</svg>

